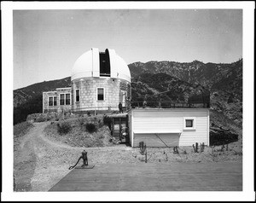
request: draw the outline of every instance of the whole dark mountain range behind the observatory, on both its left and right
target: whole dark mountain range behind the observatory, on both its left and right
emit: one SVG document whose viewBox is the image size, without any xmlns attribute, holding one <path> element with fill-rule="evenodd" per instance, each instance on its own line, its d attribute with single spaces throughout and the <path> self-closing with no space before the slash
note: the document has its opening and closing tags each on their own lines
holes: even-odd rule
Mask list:
<svg viewBox="0 0 256 203">
<path fill-rule="evenodd" d="M 188 102 L 193 96 L 210 96 L 211 109 L 242 124 L 242 59 L 232 63 L 201 61 L 148 61 L 128 65 L 132 102 Z M 43 91 L 71 86 L 71 78 L 32 84 L 14 90 L 14 124 L 27 114 L 42 113 Z"/>
</svg>

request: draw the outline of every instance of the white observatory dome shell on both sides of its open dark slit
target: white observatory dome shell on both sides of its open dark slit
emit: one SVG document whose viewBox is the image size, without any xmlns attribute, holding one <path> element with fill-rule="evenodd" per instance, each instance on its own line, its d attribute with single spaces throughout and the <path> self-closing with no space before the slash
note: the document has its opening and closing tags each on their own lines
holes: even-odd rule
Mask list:
<svg viewBox="0 0 256 203">
<path fill-rule="evenodd" d="M 131 82 L 131 73 L 125 61 L 119 55 L 116 55 L 114 49 L 106 49 L 107 52 L 109 53 L 110 78 L 120 78 Z M 92 48 L 81 55 L 73 65 L 71 80 L 100 77 L 99 55 L 99 49 L 96 48 Z"/>
</svg>

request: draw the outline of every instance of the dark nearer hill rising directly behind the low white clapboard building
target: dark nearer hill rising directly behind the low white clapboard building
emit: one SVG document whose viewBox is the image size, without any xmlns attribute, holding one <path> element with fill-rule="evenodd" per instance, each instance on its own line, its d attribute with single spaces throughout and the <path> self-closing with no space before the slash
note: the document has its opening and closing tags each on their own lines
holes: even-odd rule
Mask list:
<svg viewBox="0 0 256 203">
<path fill-rule="evenodd" d="M 133 78 L 131 83 L 132 101 L 181 103 L 205 92 L 208 91 L 200 84 L 189 84 L 166 73 L 143 73 Z"/>
</svg>

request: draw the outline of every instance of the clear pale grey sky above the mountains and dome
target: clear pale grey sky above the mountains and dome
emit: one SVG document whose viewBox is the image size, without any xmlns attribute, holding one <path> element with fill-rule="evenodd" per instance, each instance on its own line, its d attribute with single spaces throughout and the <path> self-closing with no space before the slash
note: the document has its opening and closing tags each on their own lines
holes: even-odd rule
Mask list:
<svg viewBox="0 0 256 203">
<path fill-rule="evenodd" d="M 141 61 L 242 57 L 242 9 L 14 10 L 14 90 L 69 77 L 91 48 Z"/>
</svg>

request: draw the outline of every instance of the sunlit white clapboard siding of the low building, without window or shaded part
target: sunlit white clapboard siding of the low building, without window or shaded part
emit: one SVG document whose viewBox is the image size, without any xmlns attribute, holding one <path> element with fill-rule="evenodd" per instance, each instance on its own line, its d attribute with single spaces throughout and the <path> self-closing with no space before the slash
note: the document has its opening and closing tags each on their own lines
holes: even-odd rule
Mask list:
<svg viewBox="0 0 256 203">
<path fill-rule="evenodd" d="M 195 142 L 209 144 L 209 110 L 207 108 L 132 109 L 131 112 L 133 113 L 133 115 L 131 114 L 131 122 L 133 123 L 131 138 L 135 136 L 137 140 L 140 140 L 140 134 L 133 135 L 135 131 L 155 132 L 165 129 L 166 131 L 181 131 L 179 146 L 191 146 Z M 185 117 L 195 118 L 195 130 L 183 129 L 183 118 Z M 149 137 L 152 143 L 152 135 L 148 135 Z M 155 139 L 157 140 L 157 138 Z"/>
</svg>

